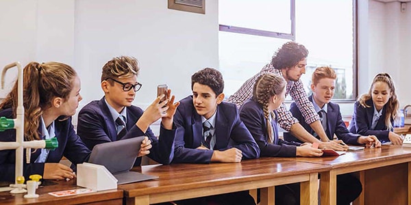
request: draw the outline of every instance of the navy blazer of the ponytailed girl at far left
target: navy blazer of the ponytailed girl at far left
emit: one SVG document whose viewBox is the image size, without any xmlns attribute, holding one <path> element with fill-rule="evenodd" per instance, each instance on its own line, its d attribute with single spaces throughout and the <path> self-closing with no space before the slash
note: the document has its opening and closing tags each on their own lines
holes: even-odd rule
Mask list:
<svg viewBox="0 0 411 205">
<path fill-rule="evenodd" d="M 3 109 L 0 111 L 1 117 L 12 118 L 12 109 Z M 41 122 L 40 122 L 41 123 Z M 55 137 L 58 139 L 58 148 L 50 150 L 47 156 L 46 163 L 59 163 L 62 156 L 69 159 L 74 165 L 88 161 L 90 157 L 90 150 L 84 145 L 82 140 L 75 134 L 71 118 L 66 120 L 55 120 Z M 0 132 L 0 141 L 16 141 L 16 130 L 10 129 Z M 30 163 L 27 164 L 25 158 L 23 159 L 23 176 L 27 180 L 32 174 L 40 174 L 43 176 L 45 163 L 34 163 L 41 153 L 38 149 L 35 152 L 32 150 Z M 0 181 L 15 180 L 15 150 L 0 150 Z"/>
</svg>

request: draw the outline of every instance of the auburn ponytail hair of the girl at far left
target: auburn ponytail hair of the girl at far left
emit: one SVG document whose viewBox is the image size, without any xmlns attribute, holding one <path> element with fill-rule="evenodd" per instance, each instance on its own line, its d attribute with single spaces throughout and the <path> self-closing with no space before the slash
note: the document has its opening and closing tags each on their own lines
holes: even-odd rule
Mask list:
<svg viewBox="0 0 411 205">
<path fill-rule="evenodd" d="M 23 69 L 24 137 L 26 141 L 40 139 L 38 126 L 43 111 L 51 107 L 55 97 L 67 99 L 77 76 L 73 68 L 58 62 L 31 62 Z M 16 118 L 17 81 L 0 104 L 0 109 L 12 108 Z"/>
</svg>

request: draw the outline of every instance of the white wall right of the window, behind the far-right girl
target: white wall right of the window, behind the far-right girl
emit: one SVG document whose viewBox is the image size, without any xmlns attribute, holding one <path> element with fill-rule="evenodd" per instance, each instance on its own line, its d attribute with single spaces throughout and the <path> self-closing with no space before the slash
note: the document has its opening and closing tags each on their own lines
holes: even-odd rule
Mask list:
<svg viewBox="0 0 411 205">
<path fill-rule="evenodd" d="M 368 60 L 368 66 L 360 66 L 360 94 L 368 92 L 375 74 L 388 72 L 393 77 L 401 107 L 411 104 L 409 82 L 411 70 L 411 3 L 406 3 L 406 11 L 401 12 L 399 1 L 382 3 L 369 0 L 368 55 L 360 58 Z M 361 60 L 360 59 L 360 60 Z M 366 70 L 366 72 L 364 72 Z M 368 76 L 366 76 L 368 75 Z"/>
</svg>

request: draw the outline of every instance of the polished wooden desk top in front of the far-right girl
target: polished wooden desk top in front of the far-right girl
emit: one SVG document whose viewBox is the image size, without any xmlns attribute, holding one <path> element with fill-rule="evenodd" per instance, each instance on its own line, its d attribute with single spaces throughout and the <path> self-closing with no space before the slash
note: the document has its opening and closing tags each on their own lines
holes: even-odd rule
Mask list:
<svg viewBox="0 0 411 205">
<path fill-rule="evenodd" d="M 340 156 L 296 157 L 288 160 L 331 165 L 332 169 L 347 168 L 348 170 L 360 171 L 411 161 L 411 148 L 383 145 L 381 148 L 365 148 L 364 150 L 346 152 Z M 360 165 L 364 167 L 360 167 Z"/>
</svg>

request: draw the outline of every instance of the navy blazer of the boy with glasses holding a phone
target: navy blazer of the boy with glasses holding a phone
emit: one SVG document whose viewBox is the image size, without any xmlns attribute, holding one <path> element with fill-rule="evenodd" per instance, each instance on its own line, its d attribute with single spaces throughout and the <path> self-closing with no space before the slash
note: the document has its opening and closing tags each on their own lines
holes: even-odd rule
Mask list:
<svg viewBox="0 0 411 205">
<path fill-rule="evenodd" d="M 169 164 L 173 160 L 175 127 L 173 130 L 167 130 L 162 125 L 160 127 L 159 139 L 154 136 L 151 128 L 143 133 L 136 122 L 140 119 L 143 111 L 140 107 L 134 105 L 127 107 L 127 133 L 121 139 L 132 137 L 147 136 L 151 140 L 150 153 L 148 156 L 162 164 Z M 101 100 L 94 100 L 88 103 L 79 112 L 77 133 L 82 138 L 86 146 L 92 150 L 99 143 L 116 141 L 117 128 L 112 118 L 112 114 L 105 104 L 104 97 Z M 120 150 L 119 150 L 120 151 Z M 136 159 L 134 165 L 141 164 L 141 157 Z"/>
</svg>

